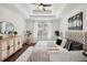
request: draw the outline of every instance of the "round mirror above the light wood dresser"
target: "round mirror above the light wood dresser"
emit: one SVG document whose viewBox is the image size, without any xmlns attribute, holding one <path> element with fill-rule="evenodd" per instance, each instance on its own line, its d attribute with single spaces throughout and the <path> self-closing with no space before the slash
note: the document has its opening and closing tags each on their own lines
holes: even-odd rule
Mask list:
<svg viewBox="0 0 87 65">
<path fill-rule="evenodd" d="M 12 34 L 14 31 L 14 25 L 10 22 L 0 22 L 0 34 Z"/>
</svg>

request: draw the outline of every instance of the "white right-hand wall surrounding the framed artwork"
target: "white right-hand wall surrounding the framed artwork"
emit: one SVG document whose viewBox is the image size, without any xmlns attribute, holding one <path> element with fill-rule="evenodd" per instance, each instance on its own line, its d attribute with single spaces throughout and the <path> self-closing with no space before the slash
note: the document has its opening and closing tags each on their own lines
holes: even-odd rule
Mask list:
<svg viewBox="0 0 87 65">
<path fill-rule="evenodd" d="M 65 18 L 61 21 L 61 31 L 63 32 L 63 35 L 65 36 L 65 31 L 68 31 L 68 18 L 83 12 L 83 30 L 87 32 L 87 4 L 81 4 L 77 7 L 76 9 L 69 11 Z M 74 31 L 74 30 L 73 30 Z"/>
</svg>

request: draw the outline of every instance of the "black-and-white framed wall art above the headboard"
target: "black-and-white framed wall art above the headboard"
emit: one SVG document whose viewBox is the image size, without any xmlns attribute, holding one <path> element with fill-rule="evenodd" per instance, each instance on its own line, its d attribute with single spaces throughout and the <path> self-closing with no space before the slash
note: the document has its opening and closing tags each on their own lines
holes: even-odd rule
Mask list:
<svg viewBox="0 0 87 65">
<path fill-rule="evenodd" d="M 83 30 L 83 12 L 68 19 L 68 30 Z"/>
</svg>

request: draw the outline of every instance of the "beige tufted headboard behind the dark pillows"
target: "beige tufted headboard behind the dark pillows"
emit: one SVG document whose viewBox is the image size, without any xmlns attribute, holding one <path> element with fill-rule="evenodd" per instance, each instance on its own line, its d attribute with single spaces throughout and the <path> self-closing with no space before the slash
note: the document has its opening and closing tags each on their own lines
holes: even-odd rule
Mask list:
<svg viewBox="0 0 87 65">
<path fill-rule="evenodd" d="M 77 41 L 84 44 L 84 48 L 87 50 L 87 32 L 65 32 L 65 39 Z"/>
</svg>

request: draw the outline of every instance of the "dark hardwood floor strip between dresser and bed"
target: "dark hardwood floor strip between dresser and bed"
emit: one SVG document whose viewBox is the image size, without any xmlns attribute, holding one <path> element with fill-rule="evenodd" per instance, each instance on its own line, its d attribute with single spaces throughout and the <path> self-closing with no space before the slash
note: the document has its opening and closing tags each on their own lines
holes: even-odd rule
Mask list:
<svg viewBox="0 0 87 65">
<path fill-rule="evenodd" d="M 34 45 L 34 44 L 33 44 Z M 30 47 L 31 45 L 28 44 L 23 44 L 23 47 L 21 50 L 19 50 L 18 52 L 15 52 L 13 55 L 11 55 L 10 57 L 8 57 L 7 59 L 4 59 L 3 62 L 14 62 L 28 47 Z"/>
</svg>

